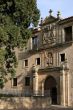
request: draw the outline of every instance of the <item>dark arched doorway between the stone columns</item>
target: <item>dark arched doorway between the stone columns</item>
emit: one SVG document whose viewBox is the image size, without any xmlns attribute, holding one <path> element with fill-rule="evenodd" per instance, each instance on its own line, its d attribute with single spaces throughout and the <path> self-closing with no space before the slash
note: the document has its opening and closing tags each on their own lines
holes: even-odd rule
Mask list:
<svg viewBox="0 0 73 110">
<path fill-rule="evenodd" d="M 52 104 L 57 104 L 57 83 L 52 76 L 48 76 L 45 80 L 44 95 L 51 98 Z"/>
</svg>

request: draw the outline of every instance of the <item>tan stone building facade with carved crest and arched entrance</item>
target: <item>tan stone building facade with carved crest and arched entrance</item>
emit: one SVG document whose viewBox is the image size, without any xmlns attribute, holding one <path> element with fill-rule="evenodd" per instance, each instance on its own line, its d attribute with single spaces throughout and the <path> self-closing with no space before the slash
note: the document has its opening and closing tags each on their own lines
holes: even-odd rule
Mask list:
<svg viewBox="0 0 73 110">
<path fill-rule="evenodd" d="M 61 19 L 59 14 L 54 17 L 50 10 L 26 48 L 16 49 L 16 77 L 3 91 L 73 106 L 73 16 Z"/>
</svg>

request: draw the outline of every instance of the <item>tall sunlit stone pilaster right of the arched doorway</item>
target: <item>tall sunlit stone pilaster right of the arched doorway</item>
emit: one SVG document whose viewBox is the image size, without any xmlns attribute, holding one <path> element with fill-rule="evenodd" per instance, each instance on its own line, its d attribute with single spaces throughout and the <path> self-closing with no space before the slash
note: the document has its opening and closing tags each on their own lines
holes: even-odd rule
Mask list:
<svg viewBox="0 0 73 110">
<path fill-rule="evenodd" d="M 61 95 L 61 105 L 70 105 L 70 77 L 69 77 L 69 67 L 67 61 L 62 65 L 62 70 L 60 73 L 60 95 Z"/>
</svg>

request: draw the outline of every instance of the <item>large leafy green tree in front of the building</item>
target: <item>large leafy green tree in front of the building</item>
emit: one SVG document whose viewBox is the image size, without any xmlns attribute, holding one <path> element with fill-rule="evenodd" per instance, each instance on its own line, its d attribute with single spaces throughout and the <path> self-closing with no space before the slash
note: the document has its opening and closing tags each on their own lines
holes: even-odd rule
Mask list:
<svg viewBox="0 0 73 110">
<path fill-rule="evenodd" d="M 6 75 L 15 75 L 14 48 L 26 45 L 30 23 L 37 26 L 39 17 L 36 0 L 0 0 L 0 85 Z"/>
</svg>

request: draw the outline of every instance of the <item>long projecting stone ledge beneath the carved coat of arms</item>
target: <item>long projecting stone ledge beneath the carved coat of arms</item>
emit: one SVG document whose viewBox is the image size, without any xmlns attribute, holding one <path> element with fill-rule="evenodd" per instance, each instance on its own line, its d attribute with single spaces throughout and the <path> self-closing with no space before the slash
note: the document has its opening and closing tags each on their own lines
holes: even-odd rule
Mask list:
<svg viewBox="0 0 73 110">
<path fill-rule="evenodd" d="M 61 42 L 56 42 L 53 44 L 46 44 L 46 45 L 40 45 L 40 46 L 33 46 L 33 48 L 31 50 L 29 50 L 29 52 L 31 54 L 37 53 L 37 52 L 41 52 L 43 50 L 47 50 L 47 49 L 54 49 L 54 48 L 63 48 L 63 47 L 69 47 L 71 46 L 73 43 L 73 40 L 71 41 L 61 41 Z"/>
</svg>

